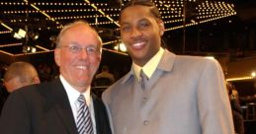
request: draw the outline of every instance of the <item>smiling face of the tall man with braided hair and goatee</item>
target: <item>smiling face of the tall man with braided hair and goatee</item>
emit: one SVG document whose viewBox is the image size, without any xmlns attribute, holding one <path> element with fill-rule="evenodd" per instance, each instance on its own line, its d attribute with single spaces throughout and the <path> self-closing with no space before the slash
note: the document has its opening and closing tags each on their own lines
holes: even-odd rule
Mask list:
<svg viewBox="0 0 256 134">
<path fill-rule="evenodd" d="M 161 46 L 164 27 L 146 6 L 126 8 L 120 19 L 121 38 L 133 62 L 142 66 L 156 54 Z"/>
</svg>

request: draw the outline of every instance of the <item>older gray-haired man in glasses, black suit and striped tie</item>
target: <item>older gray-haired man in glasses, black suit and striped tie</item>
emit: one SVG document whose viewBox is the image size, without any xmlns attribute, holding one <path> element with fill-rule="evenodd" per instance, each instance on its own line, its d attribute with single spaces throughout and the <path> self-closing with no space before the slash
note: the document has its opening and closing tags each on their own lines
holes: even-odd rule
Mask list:
<svg viewBox="0 0 256 134">
<path fill-rule="evenodd" d="M 91 94 L 102 40 L 88 23 L 66 25 L 58 34 L 54 60 L 59 78 L 18 90 L 5 102 L 1 134 L 111 134 L 102 100 Z"/>
</svg>

